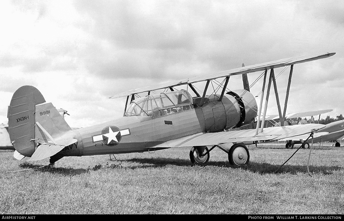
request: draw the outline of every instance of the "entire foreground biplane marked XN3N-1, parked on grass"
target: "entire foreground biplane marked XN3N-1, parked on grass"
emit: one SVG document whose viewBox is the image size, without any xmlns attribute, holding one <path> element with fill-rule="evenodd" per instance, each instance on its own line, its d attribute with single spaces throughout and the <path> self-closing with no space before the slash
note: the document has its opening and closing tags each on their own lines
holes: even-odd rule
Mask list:
<svg viewBox="0 0 344 221">
<path fill-rule="evenodd" d="M 204 164 L 209 160 L 209 153 L 217 147 L 228 155 L 230 164 L 244 165 L 250 158 L 244 143 L 269 142 L 324 127 L 321 124 L 283 125 L 293 66 L 334 54 L 281 59 L 129 90 L 110 97 L 127 97 L 123 117 L 76 130 L 68 126 L 52 103 L 45 103 L 43 95 L 36 88 L 22 86 L 14 92 L 8 108 L 10 139 L 22 156 L 29 157 L 30 161 L 50 158 L 50 164 L 65 156 L 146 152 L 179 147 L 191 148 L 190 160 L 193 164 Z M 282 113 L 274 69 L 284 66 L 290 66 L 290 73 Z M 267 78 L 268 70 L 270 73 Z M 248 90 L 227 91 L 230 76 L 257 71 L 264 73 L 259 105 Z M 209 84 L 219 78 L 223 78 L 222 90 L 219 90 L 221 93 L 207 95 Z M 196 82 L 205 82 L 203 94 L 195 90 L 193 84 Z M 268 86 L 263 107 L 266 83 Z M 275 89 L 282 126 L 264 128 L 271 84 Z M 180 85 L 187 85 L 194 96 L 191 91 L 175 90 Z M 151 93 L 159 89 L 169 91 Z M 142 93 L 144 96 L 136 98 L 135 95 Z M 262 127 L 259 125 L 261 113 Z M 253 122 L 256 117 L 255 129 L 231 130 Z"/>
</svg>

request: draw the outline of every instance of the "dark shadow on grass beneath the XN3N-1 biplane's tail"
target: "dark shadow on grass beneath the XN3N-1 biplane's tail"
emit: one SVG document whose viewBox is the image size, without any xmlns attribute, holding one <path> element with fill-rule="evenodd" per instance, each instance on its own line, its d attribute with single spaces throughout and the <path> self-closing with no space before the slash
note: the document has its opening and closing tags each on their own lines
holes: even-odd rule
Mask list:
<svg viewBox="0 0 344 221">
<path fill-rule="evenodd" d="M 28 162 L 21 163 L 19 166 L 21 168 L 24 168 L 24 170 L 34 170 L 34 171 L 49 172 L 49 173 L 55 173 L 55 174 L 71 175 L 71 176 L 88 172 L 88 170 L 82 169 L 82 168 L 74 169 L 71 167 L 64 168 L 64 167 L 54 167 L 50 165 L 43 166 L 43 165 L 31 164 Z"/>
</svg>

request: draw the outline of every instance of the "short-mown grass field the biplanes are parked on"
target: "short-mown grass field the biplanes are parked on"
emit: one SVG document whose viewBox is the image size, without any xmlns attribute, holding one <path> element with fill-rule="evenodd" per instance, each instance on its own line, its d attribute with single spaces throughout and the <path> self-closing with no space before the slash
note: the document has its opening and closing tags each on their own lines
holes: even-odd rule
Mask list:
<svg viewBox="0 0 344 221">
<path fill-rule="evenodd" d="M 295 145 L 296 147 L 296 145 Z M 0 151 L 1 214 L 343 214 L 344 148 L 249 146 L 235 168 L 214 149 L 191 166 L 188 148 L 23 162 Z M 27 171 L 17 171 L 33 168 Z M 276 172 L 276 170 L 278 170 Z M 10 172 L 17 171 L 17 172 Z"/>
</svg>

